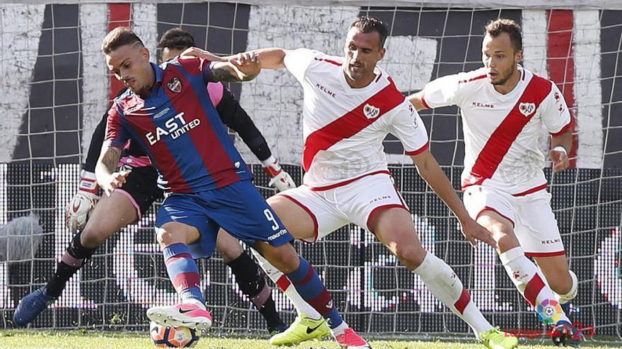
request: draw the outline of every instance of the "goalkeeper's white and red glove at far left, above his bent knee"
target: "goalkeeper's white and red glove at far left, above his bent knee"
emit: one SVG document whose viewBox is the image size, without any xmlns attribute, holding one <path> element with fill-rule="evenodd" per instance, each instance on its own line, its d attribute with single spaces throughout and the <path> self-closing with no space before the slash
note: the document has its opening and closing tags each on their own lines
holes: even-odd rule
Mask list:
<svg viewBox="0 0 622 349">
<path fill-rule="evenodd" d="M 71 233 L 86 226 L 86 221 L 99 200 L 95 173 L 82 170 L 78 192 L 65 207 L 65 225 Z"/>
</svg>

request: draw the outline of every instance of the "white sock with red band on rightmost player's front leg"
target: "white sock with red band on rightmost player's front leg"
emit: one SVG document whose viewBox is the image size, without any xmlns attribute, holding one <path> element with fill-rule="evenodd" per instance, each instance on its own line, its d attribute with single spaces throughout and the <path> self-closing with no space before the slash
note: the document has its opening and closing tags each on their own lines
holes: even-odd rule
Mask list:
<svg viewBox="0 0 622 349">
<path fill-rule="evenodd" d="M 536 264 L 524 255 L 521 247 L 514 247 L 499 255 L 501 264 L 505 267 L 507 275 L 518 288 L 522 296 L 532 307 L 548 304 L 549 300 L 555 300 L 555 294 L 546 283 L 546 278 L 541 274 Z M 545 302 L 546 301 L 546 302 Z M 555 316 L 553 316 L 553 319 Z M 561 312 L 559 320 L 568 321 L 568 317 Z"/>
</svg>

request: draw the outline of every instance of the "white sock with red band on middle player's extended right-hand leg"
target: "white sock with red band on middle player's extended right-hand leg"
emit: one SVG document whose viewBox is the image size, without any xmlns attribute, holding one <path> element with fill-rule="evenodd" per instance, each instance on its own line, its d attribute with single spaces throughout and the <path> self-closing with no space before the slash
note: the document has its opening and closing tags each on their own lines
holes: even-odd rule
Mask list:
<svg viewBox="0 0 622 349">
<path fill-rule="evenodd" d="M 428 252 L 413 273 L 421 276 L 430 292 L 471 326 L 477 338 L 480 333 L 493 328 L 471 300 L 471 295 L 462 285 L 462 281 L 445 261 Z"/>
</svg>

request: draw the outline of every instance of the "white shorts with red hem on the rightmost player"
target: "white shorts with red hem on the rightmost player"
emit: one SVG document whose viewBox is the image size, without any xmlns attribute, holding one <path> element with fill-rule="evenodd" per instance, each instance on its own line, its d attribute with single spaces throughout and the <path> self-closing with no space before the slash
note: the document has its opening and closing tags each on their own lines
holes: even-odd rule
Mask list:
<svg viewBox="0 0 622 349">
<path fill-rule="evenodd" d="M 527 195 L 513 196 L 490 186 L 471 185 L 464 190 L 464 206 L 473 219 L 484 211 L 493 211 L 512 221 L 527 257 L 565 255 L 546 186 Z"/>
</svg>

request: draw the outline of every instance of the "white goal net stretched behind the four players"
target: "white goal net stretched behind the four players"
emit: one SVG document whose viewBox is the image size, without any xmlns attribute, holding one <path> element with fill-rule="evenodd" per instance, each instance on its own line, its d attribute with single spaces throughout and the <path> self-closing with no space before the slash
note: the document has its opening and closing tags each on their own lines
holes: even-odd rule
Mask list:
<svg viewBox="0 0 622 349">
<path fill-rule="evenodd" d="M 344 1 L 347 6 L 339 7 L 329 4 L 334 1 L 292 5 L 278 0 L 250 1 L 257 5 L 33 2 L 0 5 L 0 89 L 5 96 L 0 102 L 5 135 L 0 147 L 0 224 L 33 212 L 43 228 L 42 234 L 27 237 L 32 247 L 42 239 L 38 248 L 20 256 L 8 257 L 11 238 L 17 237 L 0 235 L 4 328 L 13 326 L 11 316 L 20 298 L 45 284 L 71 239 L 64 227 L 64 205 L 77 190 L 95 125 L 119 88 L 100 54 L 107 30 L 131 25 L 153 59 L 157 40 L 172 27 L 188 30 L 197 45 L 216 54 L 308 47 L 341 55 L 348 24 L 369 14 L 389 23 L 381 65 L 405 94 L 442 75 L 479 68 L 488 20 L 512 18 L 522 25 L 524 66 L 558 84 L 577 120 L 573 168 L 554 175 L 546 169 L 570 267 L 580 280 L 575 320 L 594 326 L 597 334 L 621 336 L 621 6 L 583 8 L 580 1 L 556 10 L 527 1 L 478 1 L 480 8 L 469 7 L 468 1 L 387 1 L 386 7 L 361 6 L 362 1 Z M 553 0 L 546 6 L 568 3 Z M 300 183 L 298 83 L 285 71 L 266 71 L 253 82 L 230 88 Z M 422 118 L 432 153 L 459 188 L 464 144 L 458 110 L 426 111 Z M 239 138 L 235 142 L 245 159 L 257 164 Z M 541 147 L 548 147 L 544 133 Z M 495 251 L 469 246 L 457 220 L 417 175 L 394 137 L 385 140 L 385 149 L 426 249 L 454 268 L 493 324 L 510 331 L 541 329 Z M 253 170 L 264 195 L 274 194 L 259 166 Z M 33 326 L 146 329 L 148 307 L 176 302 L 155 243 L 157 208 L 155 204 L 141 221 L 107 240 Z M 358 331 L 385 336 L 469 331 L 368 231 L 347 226 L 315 244 L 296 246 L 317 267 L 337 307 Z M 237 289 L 221 257 L 201 261 L 200 269 L 216 331 L 264 329 L 262 317 Z M 273 297 L 283 319 L 293 320 L 293 308 L 276 288 Z"/>
</svg>

